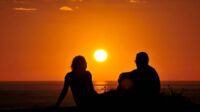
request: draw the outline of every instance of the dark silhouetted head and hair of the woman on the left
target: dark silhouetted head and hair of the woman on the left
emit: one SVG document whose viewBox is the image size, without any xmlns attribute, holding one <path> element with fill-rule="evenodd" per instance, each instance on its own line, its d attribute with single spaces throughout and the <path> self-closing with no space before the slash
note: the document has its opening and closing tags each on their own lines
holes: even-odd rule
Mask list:
<svg viewBox="0 0 200 112">
<path fill-rule="evenodd" d="M 74 57 L 71 64 L 72 70 L 85 71 L 87 68 L 87 62 L 85 58 L 81 55 Z"/>
</svg>

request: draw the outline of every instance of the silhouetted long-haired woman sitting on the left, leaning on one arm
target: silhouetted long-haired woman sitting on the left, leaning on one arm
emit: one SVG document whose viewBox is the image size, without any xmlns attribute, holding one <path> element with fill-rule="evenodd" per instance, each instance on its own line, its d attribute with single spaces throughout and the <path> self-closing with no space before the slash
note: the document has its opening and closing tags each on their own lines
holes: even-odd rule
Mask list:
<svg viewBox="0 0 200 112">
<path fill-rule="evenodd" d="M 92 83 L 92 75 L 86 71 L 87 63 L 83 56 L 76 56 L 71 65 L 72 71 L 65 76 L 64 88 L 58 98 L 56 106 L 63 101 L 69 86 L 78 107 L 92 104 L 93 97 L 97 94 Z"/>
</svg>

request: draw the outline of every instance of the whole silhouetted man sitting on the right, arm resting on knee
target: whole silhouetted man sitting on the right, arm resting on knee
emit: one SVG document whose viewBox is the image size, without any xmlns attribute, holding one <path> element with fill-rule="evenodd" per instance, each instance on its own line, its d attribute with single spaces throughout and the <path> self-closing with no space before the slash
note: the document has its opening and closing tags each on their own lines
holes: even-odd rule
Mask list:
<svg viewBox="0 0 200 112">
<path fill-rule="evenodd" d="M 137 69 L 120 74 L 118 90 L 126 90 L 136 97 L 157 96 L 160 93 L 160 79 L 156 70 L 149 65 L 148 54 L 139 52 L 135 62 Z"/>
</svg>

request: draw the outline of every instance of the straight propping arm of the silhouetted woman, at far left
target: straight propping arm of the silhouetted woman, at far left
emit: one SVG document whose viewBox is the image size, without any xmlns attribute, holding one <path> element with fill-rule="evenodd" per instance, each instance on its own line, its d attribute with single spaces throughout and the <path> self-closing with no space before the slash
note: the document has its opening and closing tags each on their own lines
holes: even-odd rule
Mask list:
<svg viewBox="0 0 200 112">
<path fill-rule="evenodd" d="M 68 76 L 65 77 L 65 82 L 64 82 L 64 87 L 62 89 L 62 92 L 56 102 L 56 106 L 59 106 L 61 104 L 61 102 L 63 101 L 63 99 L 65 98 L 68 88 L 69 88 L 69 80 L 68 80 Z"/>
</svg>

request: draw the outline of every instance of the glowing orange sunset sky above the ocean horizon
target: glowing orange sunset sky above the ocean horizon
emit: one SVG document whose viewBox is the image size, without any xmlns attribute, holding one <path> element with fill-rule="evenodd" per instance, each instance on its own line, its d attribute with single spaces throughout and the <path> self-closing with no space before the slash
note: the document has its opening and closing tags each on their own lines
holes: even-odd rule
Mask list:
<svg viewBox="0 0 200 112">
<path fill-rule="evenodd" d="M 199 11 L 199 0 L 0 0 L 0 81 L 64 80 L 77 55 L 94 81 L 116 81 L 140 51 L 161 81 L 200 80 Z"/>
</svg>

